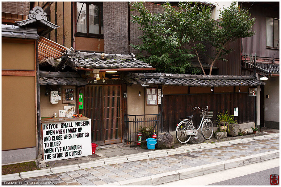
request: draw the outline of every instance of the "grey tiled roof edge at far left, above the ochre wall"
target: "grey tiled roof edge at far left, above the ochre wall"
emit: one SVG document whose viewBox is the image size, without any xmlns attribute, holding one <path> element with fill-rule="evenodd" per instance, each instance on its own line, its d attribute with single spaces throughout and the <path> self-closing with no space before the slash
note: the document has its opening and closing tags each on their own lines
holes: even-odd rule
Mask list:
<svg viewBox="0 0 281 187">
<path fill-rule="evenodd" d="M 2 24 L 2 36 L 11 38 L 39 39 L 36 28 L 20 28 L 15 25 Z"/>
</svg>

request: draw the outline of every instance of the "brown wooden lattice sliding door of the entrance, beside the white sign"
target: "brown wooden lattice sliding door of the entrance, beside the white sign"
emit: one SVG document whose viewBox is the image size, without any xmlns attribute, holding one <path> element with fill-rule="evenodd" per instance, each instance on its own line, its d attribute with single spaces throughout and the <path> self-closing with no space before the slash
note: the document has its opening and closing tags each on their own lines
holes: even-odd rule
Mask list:
<svg viewBox="0 0 281 187">
<path fill-rule="evenodd" d="M 91 118 L 92 142 L 98 145 L 120 143 L 121 85 L 88 85 L 83 97 L 84 115 Z"/>
</svg>

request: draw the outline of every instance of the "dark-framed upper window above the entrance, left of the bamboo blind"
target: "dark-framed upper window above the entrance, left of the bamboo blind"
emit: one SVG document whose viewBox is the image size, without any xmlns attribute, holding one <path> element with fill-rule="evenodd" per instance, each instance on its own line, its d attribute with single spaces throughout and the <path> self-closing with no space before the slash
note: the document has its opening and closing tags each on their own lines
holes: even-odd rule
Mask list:
<svg viewBox="0 0 281 187">
<path fill-rule="evenodd" d="M 81 11 L 81 13 L 80 13 Z M 79 16 L 80 13 L 80 16 Z M 103 4 L 76 2 L 76 36 L 103 38 Z"/>
</svg>

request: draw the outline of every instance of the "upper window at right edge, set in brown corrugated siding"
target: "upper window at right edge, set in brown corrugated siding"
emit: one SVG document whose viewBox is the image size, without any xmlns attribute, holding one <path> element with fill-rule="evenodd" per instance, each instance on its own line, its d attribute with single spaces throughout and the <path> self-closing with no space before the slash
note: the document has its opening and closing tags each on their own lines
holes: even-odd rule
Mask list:
<svg viewBox="0 0 281 187">
<path fill-rule="evenodd" d="M 279 49 L 279 19 L 266 18 L 266 47 Z"/>
</svg>

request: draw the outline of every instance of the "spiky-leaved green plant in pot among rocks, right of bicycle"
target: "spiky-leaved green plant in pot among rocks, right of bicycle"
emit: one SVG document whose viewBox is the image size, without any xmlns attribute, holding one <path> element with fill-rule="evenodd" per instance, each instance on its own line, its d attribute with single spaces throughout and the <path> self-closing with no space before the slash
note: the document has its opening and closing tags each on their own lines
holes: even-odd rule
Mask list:
<svg viewBox="0 0 281 187">
<path fill-rule="evenodd" d="M 229 130 L 229 124 L 237 123 L 234 116 L 229 115 L 228 110 L 226 110 L 225 113 L 220 112 L 216 122 L 218 122 L 217 126 L 219 127 L 220 132 L 226 132 L 226 130 Z"/>
</svg>

